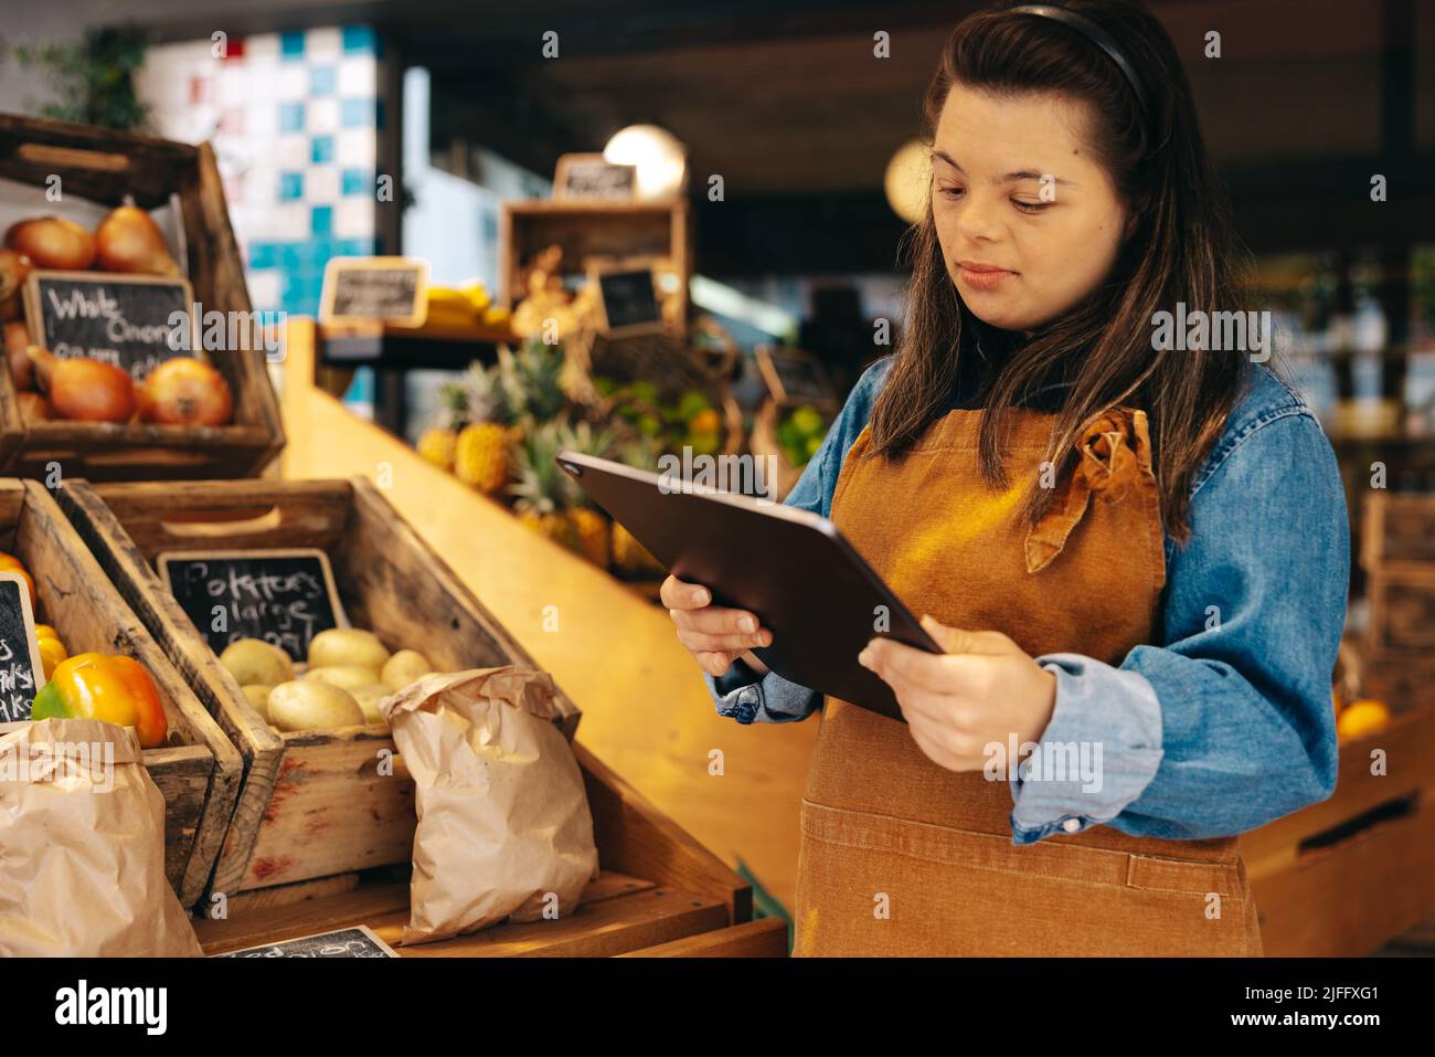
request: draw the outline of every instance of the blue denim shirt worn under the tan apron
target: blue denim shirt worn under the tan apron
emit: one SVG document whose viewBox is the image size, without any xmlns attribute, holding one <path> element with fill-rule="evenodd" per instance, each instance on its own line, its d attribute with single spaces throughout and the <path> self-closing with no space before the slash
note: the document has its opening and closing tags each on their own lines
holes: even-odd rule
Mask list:
<svg viewBox="0 0 1435 1057">
<path fill-rule="evenodd" d="M 831 517 L 847 451 L 891 358 L 868 368 L 785 500 Z M 1036 658 L 1056 704 L 1036 755 L 1101 745 L 1099 788 L 1079 776 L 1010 778 L 1012 843 L 1111 826 L 1195 840 L 1253 830 L 1335 790 L 1330 681 L 1345 623 L 1350 537 L 1335 452 L 1310 408 L 1264 366 L 1191 485 L 1191 537 L 1165 537 L 1159 642 L 1119 665 Z M 719 715 L 792 722 L 822 698 L 736 661 L 703 674 Z M 1068 755 L 1068 758 L 1075 758 Z"/>
</svg>

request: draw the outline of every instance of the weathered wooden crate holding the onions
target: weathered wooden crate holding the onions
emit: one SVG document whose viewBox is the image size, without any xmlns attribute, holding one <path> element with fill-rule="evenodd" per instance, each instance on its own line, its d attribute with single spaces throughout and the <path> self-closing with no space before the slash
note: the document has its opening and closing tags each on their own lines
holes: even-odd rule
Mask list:
<svg viewBox="0 0 1435 1057">
<path fill-rule="evenodd" d="M 46 187 L 59 175 L 66 194 L 102 205 L 133 195 L 145 208 L 178 197 L 187 260 L 181 261 L 205 312 L 250 312 L 248 287 L 224 188 L 208 144 L 0 113 L 0 177 Z M 63 208 L 59 210 L 63 214 Z M 284 447 L 284 427 L 263 350 L 212 352 L 234 392 L 230 425 L 191 428 L 123 422 L 36 422 L 20 418 L 9 371 L 0 371 L 0 472 L 47 477 L 158 480 L 258 474 Z"/>
</svg>

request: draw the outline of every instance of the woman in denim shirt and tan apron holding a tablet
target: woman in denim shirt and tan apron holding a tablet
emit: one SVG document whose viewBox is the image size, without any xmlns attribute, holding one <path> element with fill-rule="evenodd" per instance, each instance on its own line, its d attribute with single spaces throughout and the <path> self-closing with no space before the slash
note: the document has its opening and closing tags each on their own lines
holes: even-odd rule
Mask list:
<svg viewBox="0 0 1435 1057">
<path fill-rule="evenodd" d="M 926 116 L 900 348 L 788 503 L 946 652 L 862 652 L 905 724 L 827 701 L 796 952 L 1258 955 L 1237 834 L 1335 787 L 1349 537 L 1269 333 L 1185 332 L 1247 263 L 1175 50 L 1126 0 L 979 13 Z M 752 613 L 663 602 L 720 714 L 822 704 Z"/>
</svg>

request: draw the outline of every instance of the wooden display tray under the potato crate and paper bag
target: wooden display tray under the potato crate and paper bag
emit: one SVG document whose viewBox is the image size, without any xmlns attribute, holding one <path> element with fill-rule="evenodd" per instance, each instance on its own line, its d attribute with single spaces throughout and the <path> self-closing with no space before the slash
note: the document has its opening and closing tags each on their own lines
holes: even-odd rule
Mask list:
<svg viewBox="0 0 1435 1057">
<path fill-rule="evenodd" d="M 782 956 L 786 923 L 752 921 L 752 889 L 649 800 L 574 745 L 593 809 L 600 875 L 558 921 L 512 922 L 436 944 L 397 946 L 406 883 L 356 883 L 224 921 L 195 922 L 205 954 L 367 925 L 403 956 Z"/>
</svg>

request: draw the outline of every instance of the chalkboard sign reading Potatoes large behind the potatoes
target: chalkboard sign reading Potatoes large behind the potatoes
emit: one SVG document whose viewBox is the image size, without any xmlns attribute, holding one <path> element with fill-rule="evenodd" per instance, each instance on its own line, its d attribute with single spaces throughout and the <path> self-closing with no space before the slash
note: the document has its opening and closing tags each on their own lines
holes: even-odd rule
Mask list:
<svg viewBox="0 0 1435 1057">
<path fill-rule="evenodd" d="M 263 639 L 304 661 L 319 632 L 349 626 L 321 550 L 165 551 L 155 564 L 215 653 Z"/>
</svg>

